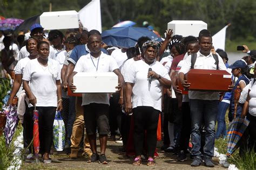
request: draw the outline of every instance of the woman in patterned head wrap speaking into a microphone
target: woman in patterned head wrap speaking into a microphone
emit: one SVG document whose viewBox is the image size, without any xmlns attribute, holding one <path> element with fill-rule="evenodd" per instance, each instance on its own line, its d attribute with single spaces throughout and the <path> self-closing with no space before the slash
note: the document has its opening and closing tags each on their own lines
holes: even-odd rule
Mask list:
<svg viewBox="0 0 256 170">
<path fill-rule="evenodd" d="M 147 166 L 154 165 L 154 150 L 157 144 L 157 124 L 161 112 L 162 86 L 170 87 L 168 71 L 156 61 L 159 43 L 149 40 L 142 45 L 144 59 L 134 62 L 127 70 L 125 94 L 127 113 L 133 112 L 134 149 L 133 165 L 141 165 L 144 131 L 146 130 Z M 131 103 L 132 99 L 132 103 Z"/>
</svg>

